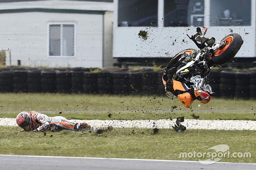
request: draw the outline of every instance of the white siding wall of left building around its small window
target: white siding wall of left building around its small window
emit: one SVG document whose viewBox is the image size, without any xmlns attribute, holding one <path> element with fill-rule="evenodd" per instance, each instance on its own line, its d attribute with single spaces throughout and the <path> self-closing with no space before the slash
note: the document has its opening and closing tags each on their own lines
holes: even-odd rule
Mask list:
<svg viewBox="0 0 256 170">
<path fill-rule="evenodd" d="M 13 65 L 102 67 L 103 15 L 25 12 L 0 18 L 0 49 L 12 50 Z M 47 57 L 47 23 L 53 22 L 76 24 L 74 58 Z"/>
</svg>

